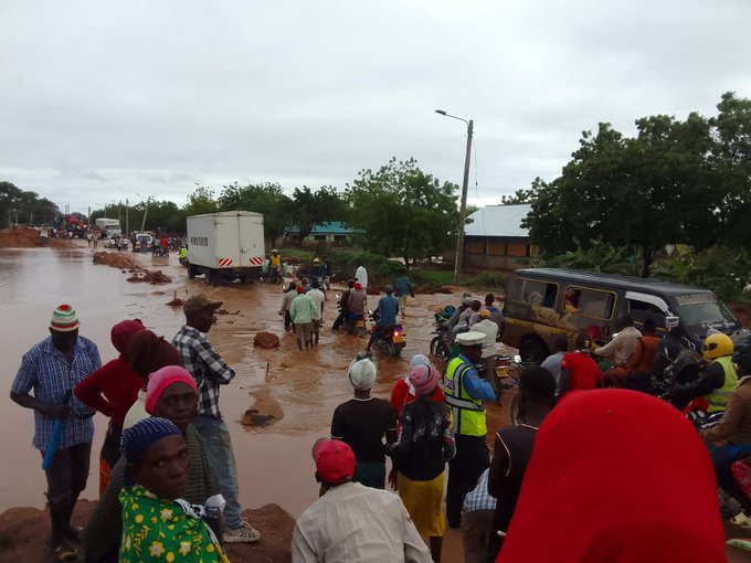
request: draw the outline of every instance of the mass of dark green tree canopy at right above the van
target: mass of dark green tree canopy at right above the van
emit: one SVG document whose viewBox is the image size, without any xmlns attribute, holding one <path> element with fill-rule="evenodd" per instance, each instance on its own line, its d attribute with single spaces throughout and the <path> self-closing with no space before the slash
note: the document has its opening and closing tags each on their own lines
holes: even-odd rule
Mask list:
<svg viewBox="0 0 751 563">
<path fill-rule="evenodd" d="M 610 124 L 584 131 L 559 178 L 538 178 L 510 199 L 531 201 L 523 224 L 532 242 L 551 255 L 593 241 L 634 245 L 647 276 L 666 244 L 701 249 L 748 240 L 751 103 L 729 93 L 718 109 L 712 119 L 637 119 L 633 138 Z"/>
</svg>

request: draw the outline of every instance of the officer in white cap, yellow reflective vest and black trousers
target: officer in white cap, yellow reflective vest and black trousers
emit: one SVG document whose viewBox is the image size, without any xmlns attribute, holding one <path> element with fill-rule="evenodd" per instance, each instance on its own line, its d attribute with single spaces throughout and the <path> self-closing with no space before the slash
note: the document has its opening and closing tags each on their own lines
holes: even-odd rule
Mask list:
<svg viewBox="0 0 751 563">
<path fill-rule="evenodd" d="M 448 463 L 446 520 L 451 528 L 462 525 L 462 504 L 475 488 L 479 476 L 490 465 L 485 436 L 485 401 L 495 401 L 493 386 L 482 378 L 475 365 L 482 362 L 483 332 L 469 331 L 456 336 L 459 355 L 446 364 L 444 394 L 454 415 L 456 456 Z"/>
</svg>

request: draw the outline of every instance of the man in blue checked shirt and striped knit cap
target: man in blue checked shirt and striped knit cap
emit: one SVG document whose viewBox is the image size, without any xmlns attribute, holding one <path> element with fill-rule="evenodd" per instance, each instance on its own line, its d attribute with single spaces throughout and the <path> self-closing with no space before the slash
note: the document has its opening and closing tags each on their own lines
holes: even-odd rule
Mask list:
<svg viewBox="0 0 751 563">
<path fill-rule="evenodd" d="M 86 488 L 94 438 L 95 411 L 72 396 L 72 392 L 102 367 L 99 350 L 78 336 L 78 326 L 75 309 L 59 306 L 52 314 L 50 336 L 23 355 L 10 391 L 15 403 L 34 411 L 33 446 L 42 455 L 47 449 L 53 452 L 44 468 L 52 523 L 45 543 L 57 561 L 76 557 L 70 542 L 80 541 L 80 530 L 71 527 L 71 514 L 78 495 Z"/>
</svg>

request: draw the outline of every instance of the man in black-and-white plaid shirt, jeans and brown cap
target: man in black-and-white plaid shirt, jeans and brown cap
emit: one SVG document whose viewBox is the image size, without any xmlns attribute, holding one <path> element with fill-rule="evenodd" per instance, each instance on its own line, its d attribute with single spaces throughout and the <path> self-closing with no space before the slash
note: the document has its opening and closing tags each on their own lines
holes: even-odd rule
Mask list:
<svg viewBox="0 0 751 563">
<path fill-rule="evenodd" d="M 230 431 L 219 410 L 220 385 L 229 384 L 235 373 L 205 337 L 216 322 L 214 312 L 221 306 L 222 301 L 210 301 L 204 295 L 189 298 L 182 306 L 186 323 L 172 339 L 172 344 L 182 353 L 186 370 L 195 379 L 198 386 L 198 413 L 193 425 L 203 438 L 209 461 L 219 478 L 219 492 L 226 500 L 224 541 L 255 542 L 261 533 L 241 513 Z"/>
</svg>

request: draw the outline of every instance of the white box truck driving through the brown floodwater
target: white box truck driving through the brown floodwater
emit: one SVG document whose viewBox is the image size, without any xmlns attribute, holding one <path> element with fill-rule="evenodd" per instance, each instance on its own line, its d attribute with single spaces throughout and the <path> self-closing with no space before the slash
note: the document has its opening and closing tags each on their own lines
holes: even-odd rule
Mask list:
<svg viewBox="0 0 751 563">
<path fill-rule="evenodd" d="M 188 277 L 207 284 L 258 279 L 264 261 L 263 215 L 225 211 L 188 217 Z"/>
</svg>

